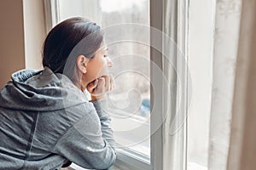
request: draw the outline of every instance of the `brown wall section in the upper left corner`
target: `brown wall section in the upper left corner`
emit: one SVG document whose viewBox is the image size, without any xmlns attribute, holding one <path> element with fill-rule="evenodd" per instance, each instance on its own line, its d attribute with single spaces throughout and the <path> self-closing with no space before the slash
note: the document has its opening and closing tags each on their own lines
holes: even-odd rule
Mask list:
<svg viewBox="0 0 256 170">
<path fill-rule="evenodd" d="M 1 0 L 0 87 L 14 71 L 25 68 L 23 10 L 21 0 Z"/>
</svg>

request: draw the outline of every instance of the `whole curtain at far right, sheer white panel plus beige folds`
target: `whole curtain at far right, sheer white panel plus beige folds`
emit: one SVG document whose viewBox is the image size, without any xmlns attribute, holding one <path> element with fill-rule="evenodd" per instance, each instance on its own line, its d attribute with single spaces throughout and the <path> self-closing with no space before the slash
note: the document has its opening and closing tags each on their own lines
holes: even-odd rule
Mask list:
<svg viewBox="0 0 256 170">
<path fill-rule="evenodd" d="M 256 166 L 255 7 L 250 0 L 216 3 L 208 169 Z"/>
</svg>

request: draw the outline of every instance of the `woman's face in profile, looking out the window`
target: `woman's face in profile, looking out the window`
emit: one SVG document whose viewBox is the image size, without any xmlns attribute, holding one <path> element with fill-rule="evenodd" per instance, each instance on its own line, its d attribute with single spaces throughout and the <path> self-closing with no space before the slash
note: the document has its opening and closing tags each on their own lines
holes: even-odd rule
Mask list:
<svg viewBox="0 0 256 170">
<path fill-rule="evenodd" d="M 82 77 L 84 86 L 87 87 L 87 85 L 95 81 L 96 78 L 108 75 L 108 68 L 112 67 L 112 65 L 112 61 L 108 58 L 108 48 L 102 45 L 87 63 L 86 73 L 84 73 Z"/>
</svg>

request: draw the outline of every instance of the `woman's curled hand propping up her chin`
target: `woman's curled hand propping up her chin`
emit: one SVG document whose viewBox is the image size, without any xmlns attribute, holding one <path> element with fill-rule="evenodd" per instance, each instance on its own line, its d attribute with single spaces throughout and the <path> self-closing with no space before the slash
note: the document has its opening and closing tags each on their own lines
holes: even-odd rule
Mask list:
<svg viewBox="0 0 256 170">
<path fill-rule="evenodd" d="M 105 94 L 114 88 L 114 82 L 112 76 L 102 76 L 95 81 L 90 82 L 87 86 L 87 90 L 90 93 L 91 100 L 103 99 Z"/>
</svg>

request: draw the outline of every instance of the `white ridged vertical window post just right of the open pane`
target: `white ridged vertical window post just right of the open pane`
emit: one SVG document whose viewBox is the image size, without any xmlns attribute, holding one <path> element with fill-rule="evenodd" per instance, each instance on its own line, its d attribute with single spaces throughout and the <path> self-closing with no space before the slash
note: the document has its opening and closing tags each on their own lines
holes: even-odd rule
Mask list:
<svg viewBox="0 0 256 170">
<path fill-rule="evenodd" d="M 163 169 L 186 169 L 188 100 L 187 0 L 163 0 L 162 69 L 163 88 Z"/>
</svg>

